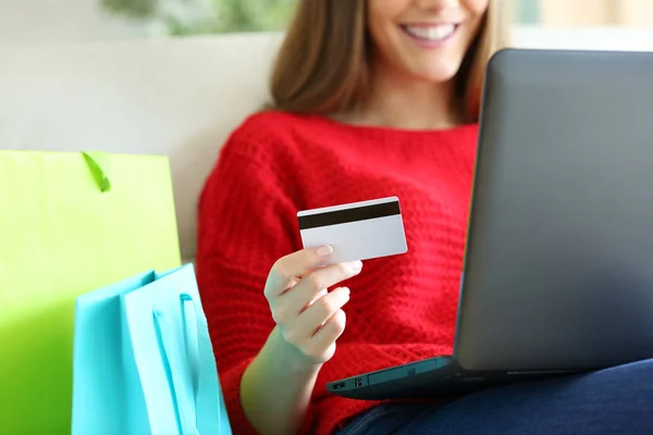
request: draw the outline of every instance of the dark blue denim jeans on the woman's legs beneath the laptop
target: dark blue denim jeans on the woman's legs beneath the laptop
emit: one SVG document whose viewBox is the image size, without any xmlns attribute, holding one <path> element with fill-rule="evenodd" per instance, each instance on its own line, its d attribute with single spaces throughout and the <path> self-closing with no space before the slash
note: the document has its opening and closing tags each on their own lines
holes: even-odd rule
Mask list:
<svg viewBox="0 0 653 435">
<path fill-rule="evenodd" d="M 653 360 L 495 387 L 446 405 L 382 405 L 337 434 L 653 435 Z"/>
</svg>

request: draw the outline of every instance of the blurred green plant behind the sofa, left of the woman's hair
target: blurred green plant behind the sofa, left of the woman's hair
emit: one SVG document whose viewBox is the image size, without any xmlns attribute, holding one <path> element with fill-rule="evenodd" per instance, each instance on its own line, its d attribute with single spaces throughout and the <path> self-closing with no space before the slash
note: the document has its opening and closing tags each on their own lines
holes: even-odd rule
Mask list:
<svg viewBox="0 0 653 435">
<path fill-rule="evenodd" d="M 99 0 L 133 20 L 162 24 L 171 35 L 282 29 L 297 0 Z"/>
</svg>

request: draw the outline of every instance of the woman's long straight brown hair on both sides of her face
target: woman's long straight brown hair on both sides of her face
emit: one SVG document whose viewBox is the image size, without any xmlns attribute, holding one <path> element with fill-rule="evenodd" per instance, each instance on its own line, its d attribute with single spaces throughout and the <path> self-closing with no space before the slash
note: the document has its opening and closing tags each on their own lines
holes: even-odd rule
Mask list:
<svg viewBox="0 0 653 435">
<path fill-rule="evenodd" d="M 507 45 L 505 0 L 490 0 L 477 37 L 456 76 L 463 110 L 477 121 L 485 65 Z M 370 92 L 371 41 L 367 0 L 299 0 L 274 64 L 269 109 L 346 113 Z"/>
</svg>

